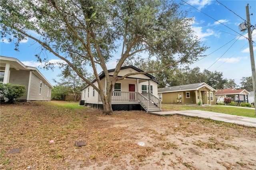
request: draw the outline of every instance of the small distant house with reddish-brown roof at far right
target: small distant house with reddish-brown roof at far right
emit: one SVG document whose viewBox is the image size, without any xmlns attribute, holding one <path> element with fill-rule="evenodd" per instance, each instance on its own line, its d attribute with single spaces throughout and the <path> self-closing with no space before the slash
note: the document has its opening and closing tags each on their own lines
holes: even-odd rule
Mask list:
<svg viewBox="0 0 256 170">
<path fill-rule="evenodd" d="M 246 91 L 246 89 L 219 89 L 215 96 L 217 97 L 217 101 L 224 101 L 224 98 L 230 98 L 234 102 L 247 102 L 248 103 L 248 95 L 250 93 Z"/>
</svg>

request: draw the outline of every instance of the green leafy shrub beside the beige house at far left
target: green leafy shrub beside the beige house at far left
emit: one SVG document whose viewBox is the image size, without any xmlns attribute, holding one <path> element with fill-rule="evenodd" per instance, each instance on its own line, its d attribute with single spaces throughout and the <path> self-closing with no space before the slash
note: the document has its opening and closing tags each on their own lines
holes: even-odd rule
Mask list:
<svg viewBox="0 0 256 170">
<path fill-rule="evenodd" d="M 24 85 L 0 84 L 0 97 L 1 99 L 7 98 L 8 103 L 14 103 L 17 98 L 24 96 L 25 93 L 26 88 Z"/>
</svg>

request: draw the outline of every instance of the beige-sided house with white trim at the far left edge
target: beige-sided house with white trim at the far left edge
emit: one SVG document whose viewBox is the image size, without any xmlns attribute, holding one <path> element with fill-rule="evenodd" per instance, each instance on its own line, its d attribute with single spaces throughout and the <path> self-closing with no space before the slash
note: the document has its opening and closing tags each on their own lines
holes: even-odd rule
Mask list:
<svg viewBox="0 0 256 170">
<path fill-rule="evenodd" d="M 24 65 L 16 58 L 0 56 L 0 83 L 24 85 L 26 93 L 19 101 L 50 101 L 53 86 L 36 67 Z"/>
</svg>

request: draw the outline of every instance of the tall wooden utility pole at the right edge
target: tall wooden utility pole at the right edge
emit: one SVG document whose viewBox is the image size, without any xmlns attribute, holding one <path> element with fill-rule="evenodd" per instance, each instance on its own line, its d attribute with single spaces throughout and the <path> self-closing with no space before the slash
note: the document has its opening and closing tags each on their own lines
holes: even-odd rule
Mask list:
<svg viewBox="0 0 256 170">
<path fill-rule="evenodd" d="M 250 24 L 250 14 L 249 14 L 249 4 L 246 6 L 246 20 L 247 20 L 247 30 L 248 30 L 248 40 L 249 40 L 249 49 L 250 49 L 250 59 L 251 59 L 251 67 L 252 67 L 252 85 L 254 91 L 254 108 L 256 105 L 256 70 L 255 70 L 255 61 L 254 61 L 254 53 L 252 46 L 252 32 L 251 32 L 251 24 Z M 255 108 L 256 115 L 256 108 Z"/>
</svg>

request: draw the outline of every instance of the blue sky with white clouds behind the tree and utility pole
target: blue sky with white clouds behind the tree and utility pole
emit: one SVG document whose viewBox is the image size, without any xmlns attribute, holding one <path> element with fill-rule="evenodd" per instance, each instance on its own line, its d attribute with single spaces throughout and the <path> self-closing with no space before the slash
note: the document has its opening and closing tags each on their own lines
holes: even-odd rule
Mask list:
<svg viewBox="0 0 256 170">
<path fill-rule="evenodd" d="M 221 4 L 220 4 L 220 3 Z M 250 64 L 249 43 L 247 30 L 240 32 L 238 26 L 246 20 L 246 5 L 249 4 L 250 23 L 256 27 L 256 1 L 255 0 L 188 0 L 182 8 L 190 10 L 188 17 L 194 18 L 193 29 L 209 49 L 204 53 L 207 57 L 190 65 L 191 68 L 200 67 L 209 71 L 223 73 L 223 77 L 234 79 L 240 85 L 242 77 L 252 75 Z M 194 8 L 193 8 L 193 7 Z M 226 7 L 225 7 L 226 6 Z M 200 10 L 200 11 L 199 11 Z M 240 36 L 240 34 L 242 36 Z M 256 53 L 256 30 L 252 32 L 254 41 L 254 58 Z M 226 45 L 225 45 L 226 44 Z M 36 61 L 35 55 L 40 45 L 28 39 L 20 44 L 19 50 L 14 50 L 14 43 L 0 42 L 0 55 L 14 57 L 25 65 L 38 67 L 42 65 Z M 49 60 L 57 60 L 52 53 L 47 53 Z M 116 58 L 108 63 L 108 69 L 114 68 Z M 45 70 L 38 67 L 40 72 L 55 85 L 53 78 L 58 79 L 60 69 Z M 99 70 L 100 71 L 100 70 Z"/>
</svg>

